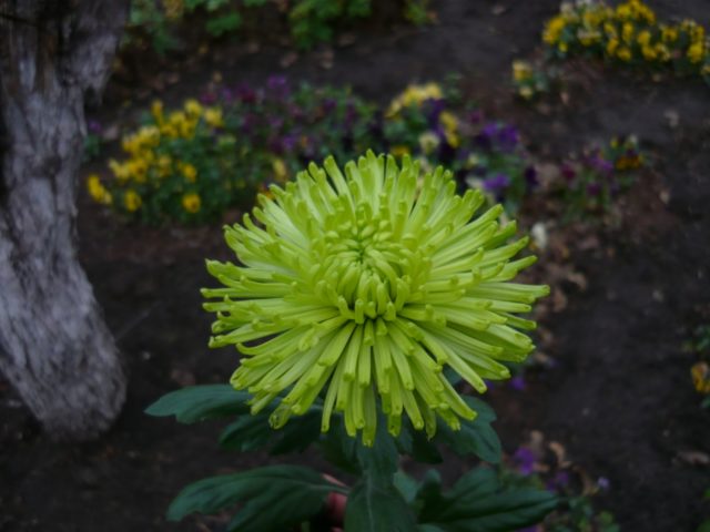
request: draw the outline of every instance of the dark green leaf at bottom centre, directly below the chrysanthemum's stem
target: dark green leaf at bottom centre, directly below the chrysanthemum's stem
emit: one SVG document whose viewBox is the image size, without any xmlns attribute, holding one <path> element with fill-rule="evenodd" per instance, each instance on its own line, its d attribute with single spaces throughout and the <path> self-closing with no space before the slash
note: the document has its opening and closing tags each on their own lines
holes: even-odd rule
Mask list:
<svg viewBox="0 0 710 532">
<path fill-rule="evenodd" d="M 345 508 L 345 532 L 412 532 L 414 513 L 392 479 L 366 472 L 353 487 Z"/>
</svg>

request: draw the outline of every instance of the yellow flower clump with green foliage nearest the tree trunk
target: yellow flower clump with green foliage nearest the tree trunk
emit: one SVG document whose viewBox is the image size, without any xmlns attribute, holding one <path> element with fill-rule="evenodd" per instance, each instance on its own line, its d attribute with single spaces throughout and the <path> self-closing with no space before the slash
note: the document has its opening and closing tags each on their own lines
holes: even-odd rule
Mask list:
<svg viewBox="0 0 710 532">
<path fill-rule="evenodd" d="M 109 162 L 113 180 L 103 184 L 90 176 L 89 194 L 146 222 L 164 216 L 185 223 L 214 218 L 251 186 L 232 177 L 235 139 L 224 126 L 220 106 L 189 100 L 166 113 L 156 101 L 144 124 L 122 139 L 128 157 Z"/>
</svg>

